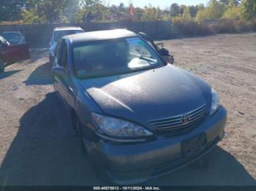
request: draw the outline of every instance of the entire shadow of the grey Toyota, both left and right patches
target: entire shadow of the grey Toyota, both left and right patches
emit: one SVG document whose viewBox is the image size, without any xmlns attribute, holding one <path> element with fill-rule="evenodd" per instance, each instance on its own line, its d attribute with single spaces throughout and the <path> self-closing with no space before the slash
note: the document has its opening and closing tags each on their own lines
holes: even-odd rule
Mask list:
<svg viewBox="0 0 256 191">
<path fill-rule="evenodd" d="M 206 160 L 206 167 L 192 163 L 144 184 L 255 184 L 243 165 L 220 147 Z M 48 93 L 20 118 L 17 136 L 1 164 L 0 185 L 102 185 L 83 155 L 79 137 L 72 132 L 69 117 L 55 93 Z"/>
</svg>

